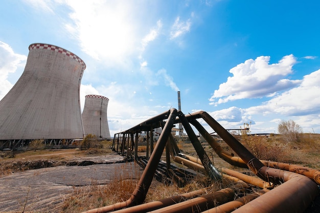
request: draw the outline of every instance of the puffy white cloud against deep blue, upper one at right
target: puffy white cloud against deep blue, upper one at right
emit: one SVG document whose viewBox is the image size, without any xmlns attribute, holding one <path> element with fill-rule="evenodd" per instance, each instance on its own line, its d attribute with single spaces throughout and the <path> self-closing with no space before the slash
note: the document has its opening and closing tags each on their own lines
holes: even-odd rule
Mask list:
<svg viewBox="0 0 320 213">
<path fill-rule="evenodd" d="M 293 73 L 292 66 L 296 63 L 293 55 L 285 56 L 275 64 L 269 64 L 269 60 L 269 56 L 260 56 L 256 60 L 246 60 L 230 69 L 233 76 L 228 77 L 227 81 L 214 91 L 210 104 L 275 95 L 275 92 L 301 83 L 299 80 L 284 79 Z"/>
</svg>

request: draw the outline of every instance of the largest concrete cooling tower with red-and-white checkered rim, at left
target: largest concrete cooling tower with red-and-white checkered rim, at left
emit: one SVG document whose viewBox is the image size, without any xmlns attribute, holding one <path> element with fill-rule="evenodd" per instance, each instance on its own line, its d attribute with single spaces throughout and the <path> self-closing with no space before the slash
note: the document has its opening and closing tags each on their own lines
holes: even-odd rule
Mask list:
<svg viewBox="0 0 320 213">
<path fill-rule="evenodd" d="M 83 138 L 79 88 L 85 63 L 58 46 L 29 46 L 19 80 L 0 101 L 0 139 Z"/>
</svg>

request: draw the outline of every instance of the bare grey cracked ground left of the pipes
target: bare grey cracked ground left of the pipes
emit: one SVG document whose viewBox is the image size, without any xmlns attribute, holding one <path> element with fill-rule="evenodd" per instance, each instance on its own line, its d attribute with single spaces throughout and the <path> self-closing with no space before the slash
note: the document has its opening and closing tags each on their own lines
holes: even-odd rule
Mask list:
<svg viewBox="0 0 320 213">
<path fill-rule="evenodd" d="M 0 178 L 0 212 L 60 212 L 63 197 L 70 194 L 74 186 L 105 184 L 117 174 L 125 173 L 135 178 L 136 172 L 142 173 L 139 165 L 129 162 L 121 167 L 123 160 L 117 154 L 88 156 L 98 164 L 87 166 L 65 166 L 16 172 Z"/>
</svg>

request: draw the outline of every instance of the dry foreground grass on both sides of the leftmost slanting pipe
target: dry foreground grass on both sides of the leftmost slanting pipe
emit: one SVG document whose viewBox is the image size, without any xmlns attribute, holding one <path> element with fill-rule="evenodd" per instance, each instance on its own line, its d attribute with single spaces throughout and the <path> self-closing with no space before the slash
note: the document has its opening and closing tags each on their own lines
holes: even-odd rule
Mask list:
<svg viewBox="0 0 320 213">
<path fill-rule="evenodd" d="M 123 163 L 119 165 L 119 169 L 115 170 L 116 179 L 112 180 L 109 184 L 99 185 L 93 182 L 87 186 L 73 187 L 70 194 L 63 197 L 61 211 L 65 213 L 80 212 L 126 201 L 130 198 L 140 179 L 139 174 L 134 175 L 138 178 L 130 178 L 120 172 L 128 169 L 131 170 L 132 173 L 136 172 L 132 164 Z M 171 196 L 200 190 L 204 187 L 209 187 L 207 191 L 207 194 L 209 194 L 233 185 L 234 183 L 228 179 L 223 179 L 221 182 L 211 182 L 207 178 L 200 176 L 196 177 L 196 179 L 185 187 L 178 187 L 176 184 L 167 185 L 153 180 L 145 202 L 165 199 Z"/>
</svg>

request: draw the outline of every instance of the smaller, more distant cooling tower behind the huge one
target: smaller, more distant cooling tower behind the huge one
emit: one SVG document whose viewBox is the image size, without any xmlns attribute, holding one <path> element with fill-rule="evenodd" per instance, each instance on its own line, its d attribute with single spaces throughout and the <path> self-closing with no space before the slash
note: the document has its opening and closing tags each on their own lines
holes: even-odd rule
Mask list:
<svg viewBox="0 0 320 213">
<path fill-rule="evenodd" d="M 85 134 L 96 135 L 100 138 L 110 138 L 107 108 L 109 99 L 103 96 L 88 94 L 85 96 L 82 112 Z"/>
</svg>

